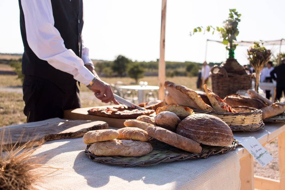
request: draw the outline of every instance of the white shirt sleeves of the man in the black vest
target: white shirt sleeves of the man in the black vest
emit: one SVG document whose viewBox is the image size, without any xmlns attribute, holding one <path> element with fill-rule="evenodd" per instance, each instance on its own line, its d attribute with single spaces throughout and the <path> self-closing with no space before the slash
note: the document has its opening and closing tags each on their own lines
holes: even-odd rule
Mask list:
<svg viewBox="0 0 285 190">
<path fill-rule="evenodd" d="M 21 0 L 25 17 L 29 47 L 36 56 L 51 66 L 73 75 L 74 79 L 88 85 L 94 78 L 84 64 L 92 63 L 89 50 L 82 45 L 82 59 L 66 49 L 59 31 L 54 27 L 50 0 Z"/>
</svg>

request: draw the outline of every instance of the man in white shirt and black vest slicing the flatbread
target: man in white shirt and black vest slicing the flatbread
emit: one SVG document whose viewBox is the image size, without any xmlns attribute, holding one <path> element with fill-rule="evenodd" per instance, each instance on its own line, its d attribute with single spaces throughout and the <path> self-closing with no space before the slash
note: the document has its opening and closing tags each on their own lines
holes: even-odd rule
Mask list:
<svg viewBox="0 0 285 190">
<path fill-rule="evenodd" d="M 118 104 L 84 47 L 82 0 L 19 0 L 27 122 L 63 117 L 81 107 L 77 81 L 102 102 Z"/>
</svg>

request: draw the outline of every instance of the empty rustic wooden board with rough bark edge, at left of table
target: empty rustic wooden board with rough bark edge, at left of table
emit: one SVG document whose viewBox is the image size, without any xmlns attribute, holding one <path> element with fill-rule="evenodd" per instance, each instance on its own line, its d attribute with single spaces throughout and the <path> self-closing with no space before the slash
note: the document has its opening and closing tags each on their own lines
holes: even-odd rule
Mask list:
<svg viewBox="0 0 285 190">
<path fill-rule="evenodd" d="M 10 150 L 15 143 L 23 145 L 31 141 L 28 148 L 50 140 L 83 137 L 86 132 L 98 129 L 108 129 L 108 124 L 104 121 L 66 120 L 37 127 L 4 128 L 0 129 L 0 134 L 4 132 L 4 150 Z"/>
</svg>

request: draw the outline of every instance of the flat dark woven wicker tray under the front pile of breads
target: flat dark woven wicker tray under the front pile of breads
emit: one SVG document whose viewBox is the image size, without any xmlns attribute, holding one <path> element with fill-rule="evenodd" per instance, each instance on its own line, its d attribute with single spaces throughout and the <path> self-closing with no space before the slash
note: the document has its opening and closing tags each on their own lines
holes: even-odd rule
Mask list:
<svg viewBox="0 0 285 190">
<path fill-rule="evenodd" d="M 126 156 L 96 156 L 88 151 L 90 145 L 87 145 L 85 153 L 94 162 L 101 162 L 103 164 L 120 165 L 123 167 L 133 166 L 150 166 L 159 164 L 160 162 L 173 162 L 176 160 L 200 159 L 208 158 L 215 154 L 224 154 L 235 150 L 238 146 L 238 140 L 234 140 L 232 145 L 226 147 L 202 145 L 202 152 L 200 154 L 190 153 L 181 149 L 170 146 L 158 140 L 149 141 L 153 146 L 153 151 L 141 157 L 126 157 Z"/>
</svg>

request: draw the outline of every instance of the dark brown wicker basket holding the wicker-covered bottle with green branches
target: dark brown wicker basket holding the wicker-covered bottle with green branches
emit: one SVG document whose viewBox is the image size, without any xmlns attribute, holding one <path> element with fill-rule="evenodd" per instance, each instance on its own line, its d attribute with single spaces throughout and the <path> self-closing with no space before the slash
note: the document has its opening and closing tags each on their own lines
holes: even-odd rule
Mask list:
<svg viewBox="0 0 285 190">
<path fill-rule="evenodd" d="M 235 59 L 228 59 L 221 66 L 213 66 L 211 69 L 212 91 L 224 98 L 229 94 L 235 94 L 238 90 L 251 89 L 251 75 L 246 74 L 241 67 Z M 218 69 L 218 72 L 215 69 Z"/>
</svg>

